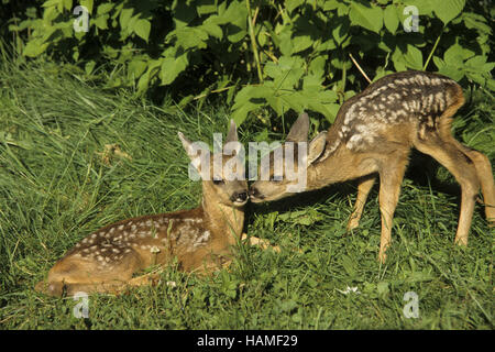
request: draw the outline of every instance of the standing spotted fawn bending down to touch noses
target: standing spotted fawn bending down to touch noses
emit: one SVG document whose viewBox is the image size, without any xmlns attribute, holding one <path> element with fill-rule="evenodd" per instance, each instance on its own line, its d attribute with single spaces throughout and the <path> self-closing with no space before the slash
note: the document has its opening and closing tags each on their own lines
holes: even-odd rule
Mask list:
<svg viewBox="0 0 495 352">
<path fill-rule="evenodd" d="M 461 185 L 461 213 L 455 243 L 468 244 L 468 235 L 480 187 L 485 215 L 495 224 L 495 187 L 488 158 L 451 134 L 452 116 L 464 103 L 461 87 L 450 78 L 425 72 L 385 76 L 340 108 L 329 131 L 320 132 L 307 146 L 305 190 L 358 179 L 358 197 L 348 230 L 359 226 L 367 195 L 380 176 L 382 232 L 378 260 L 385 262 L 391 244 L 393 216 L 411 147 L 442 164 Z M 288 142 L 307 142 L 309 119 L 302 113 L 292 127 Z M 297 146 L 295 145 L 296 151 Z M 295 180 L 274 175 L 251 186 L 253 202 L 283 198 Z M 295 154 L 296 155 L 296 154 Z M 297 164 L 297 158 L 294 160 Z M 284 173 L 284 172 L 283 172 Z M 286 172 L 285 172 L 286 173 Z M 278 176 L 280 179 L 272 179 Z"/>
</svg>

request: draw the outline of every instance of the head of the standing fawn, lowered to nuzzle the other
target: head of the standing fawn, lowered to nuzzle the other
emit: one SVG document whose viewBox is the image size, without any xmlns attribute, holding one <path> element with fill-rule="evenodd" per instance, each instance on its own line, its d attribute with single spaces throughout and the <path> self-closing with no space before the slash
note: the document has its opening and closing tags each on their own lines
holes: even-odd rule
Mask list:
<svg viewBox="0 0 495 352">
<path fill-rule="evenodd" d="M 309 117 L 302 113 L 294 122 L 286 142 L 262 158 L 261 174 L 250 189 L 253 202 L 271 201 L 306 190 L 307 168 L 323 153 L 326 133 L 308 143 Z"/>
</svg>

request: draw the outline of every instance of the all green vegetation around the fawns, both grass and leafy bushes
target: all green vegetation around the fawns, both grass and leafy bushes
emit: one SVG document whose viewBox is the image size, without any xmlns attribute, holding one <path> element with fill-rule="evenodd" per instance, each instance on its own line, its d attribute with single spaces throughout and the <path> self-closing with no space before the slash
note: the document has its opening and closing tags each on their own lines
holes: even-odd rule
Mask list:
<svg viewBox="0 0 495 352">
<path fill-rule="evenodd" d="M 457 79 L 466 96 L 457 138 L 494 164 L 488 1 L 1 2 L 1 329 L 494 328 L 494 231 L 480 206 L 469 248 L 453 245 L 459 186 L 419 153 L 385 265 L 377 189 L 346 235 L 346 183 L 250 205 L 245 230 L 282 253 L 240 245 L 231 268 L 211 277 L 170 265 L 156 287 L 91 296 L 86 319 L 72 298 L 33 289 L 100 227 L 197 206 L 177 131 L 211 144 L 233 117 L 242 142 L 279 141 L 306 110 L 316 134 L 367 86 L 363 74 Z M 88 32 L 74 28 L 84 25 L 79 4 Z M 407 6 L 419 11 L 417 32 Z M 408 292 L 416 319 L 403 311 Z"/>
</svg>

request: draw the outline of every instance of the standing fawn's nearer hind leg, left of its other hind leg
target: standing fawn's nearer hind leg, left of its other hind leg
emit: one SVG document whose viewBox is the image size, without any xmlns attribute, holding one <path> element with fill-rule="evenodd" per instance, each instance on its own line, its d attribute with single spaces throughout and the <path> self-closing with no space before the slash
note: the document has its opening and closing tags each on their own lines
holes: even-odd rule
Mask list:
<svg viewBox="0 0 495 352">
<path fill-rule="evenodd" d="M 480 190 L 480 182 L 473 161 L 461 152 L 455 144 L 440 140 L 437 136 L 428 138 L 425 141 L 418 140 L 415 142 L 415 146 L 421 153 L 435 157 L 461 185 L 461 215 L 459 217 L 455 243 L 468 245 L 474 204 Z"/>
</svg>

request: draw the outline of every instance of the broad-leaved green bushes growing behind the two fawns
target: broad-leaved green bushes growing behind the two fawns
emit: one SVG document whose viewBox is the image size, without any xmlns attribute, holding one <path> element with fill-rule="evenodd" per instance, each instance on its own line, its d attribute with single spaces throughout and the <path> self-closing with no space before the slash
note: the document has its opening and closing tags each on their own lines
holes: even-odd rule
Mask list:
<svg viewBox="0 0 495 352">
<path fill-rule="evenodd" d="M 75 31 L 85 18 L 73 0 L 46 0 L 40 18 L 11 21 L 10 30 L 26 40 L 22 53 L 77 63 L 88 78 L 106 65 L 108 88 L 143 95 L 164 87 L 180 107 L 222 95 L 238 124 L 266 108 L 277 117 L 311 110 L 332 122 L 342 101 L 367 85 L 350 55 L 373 79 L 426 69 L 495 90 L 486 1 L 79 4 L 88 11 L 88 32 Z"/>
</svg>

